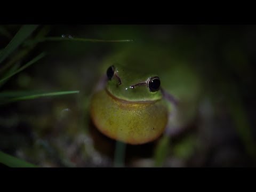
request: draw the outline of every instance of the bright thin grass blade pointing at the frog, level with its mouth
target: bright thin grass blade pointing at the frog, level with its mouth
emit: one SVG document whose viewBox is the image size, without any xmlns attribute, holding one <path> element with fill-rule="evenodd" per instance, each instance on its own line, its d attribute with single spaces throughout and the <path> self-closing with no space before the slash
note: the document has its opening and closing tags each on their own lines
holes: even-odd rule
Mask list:
<svg viewBox="0 0 256 192">
<path fill-rule="evenodd" d="M 7 99 L 4 102 L 2 102 L 1 104 L 21 101 L 21 100 L 37 99 L 37 98 L 41 98 L 41 97 L 52 97 L 52 96 L 58 96 L 58 95 L 74 94 L 74 93 L 79 93 L 79 91 L 59 91 L 59 92 L 50 92 L 50 93 L 40 93 L 40 94 L 26 95 L 26 96 L 14 97 L 14 98 L 11 98 L 11 99 Z"/>
</svg>

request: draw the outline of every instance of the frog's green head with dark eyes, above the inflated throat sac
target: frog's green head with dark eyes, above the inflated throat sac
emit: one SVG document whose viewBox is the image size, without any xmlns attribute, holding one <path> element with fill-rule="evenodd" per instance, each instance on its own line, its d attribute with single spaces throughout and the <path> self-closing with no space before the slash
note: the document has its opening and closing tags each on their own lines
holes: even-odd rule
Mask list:
<svg viewBox="0 0 256 192">
<path fill-rule="evenodd" d="M 162 98 L 160 79 L 114 64 L 107 69 L 107 92 L 125 101 L 156 101 Z"/>
</svg>

